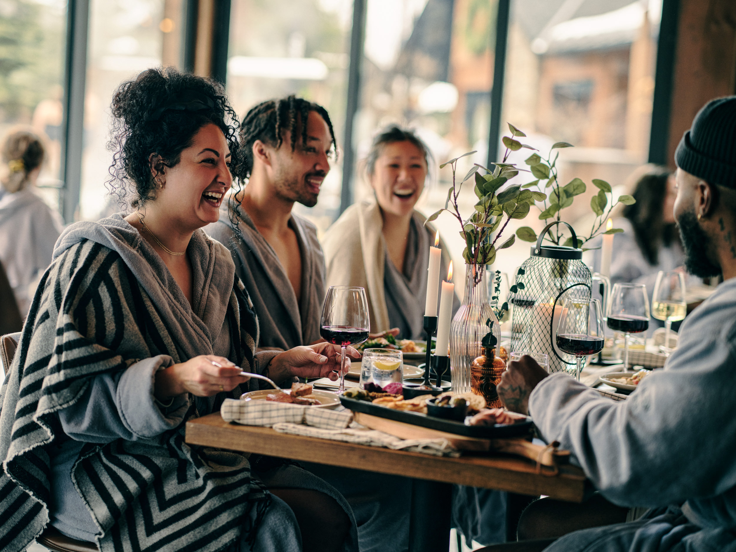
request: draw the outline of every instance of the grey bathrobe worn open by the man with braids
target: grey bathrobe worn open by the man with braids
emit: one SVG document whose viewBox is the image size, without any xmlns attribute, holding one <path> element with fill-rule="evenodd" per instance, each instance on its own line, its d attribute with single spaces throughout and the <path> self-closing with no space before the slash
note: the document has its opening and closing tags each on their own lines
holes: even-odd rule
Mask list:
<svg viewBox="0 0 736 552">
<path fill-rule="evenodd" d="M 239 232 L 233 230 L 228 208 L 236 217 Z M 299 251 L 294 254 L 302 258 L 301 300 L 297 300 L 276 252 L 238 202 L 222 202 L 219 222 L 205 227 L 206 233 L 233 252 L 238 277 L 258 313 L 258 347 L 289 350 L 319 339 L 319 318 L 325 300 L 325 257 L 314 224 L 292 213 L 289 227 L 299 242 Z"/>
</svg>

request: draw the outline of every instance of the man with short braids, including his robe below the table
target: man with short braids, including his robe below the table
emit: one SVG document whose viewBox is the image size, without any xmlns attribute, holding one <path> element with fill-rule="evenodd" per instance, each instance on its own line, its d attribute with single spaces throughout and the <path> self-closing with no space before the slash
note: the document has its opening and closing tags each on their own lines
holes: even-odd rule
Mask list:
<svg viewBox="0 0 736 552">
<path fill-rule="evenodd" d="M 303 124 L 306 121 L 306 124 Z M 261 328 L 258 346 L 289 350 L 319 341 L 325 258 L 313 224 L 291 212 L 313 207 L 336 151 L 324 107 L 289 96 L 253 107 L 243 119 L 238 177 L 247 182 L 222 202 L 206 231 L 236 257 L 236 272 Z M 353 508 L 363 552 L 408 548 L 411 480 L 300 462 L 325 478 Z"/>
</svg>

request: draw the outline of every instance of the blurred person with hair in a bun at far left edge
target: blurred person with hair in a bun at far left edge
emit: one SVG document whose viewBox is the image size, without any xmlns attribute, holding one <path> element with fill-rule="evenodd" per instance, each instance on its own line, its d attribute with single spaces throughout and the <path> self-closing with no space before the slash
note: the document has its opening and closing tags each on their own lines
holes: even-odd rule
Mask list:
<svg viewBox="0 0 736 552">
<path fill-rule="evenodd" d="M 34 191 L 45 155 L 41 138 L 25 127 L 11 128 L 0 144 L 0 261 L 24 317 L 63 229 L 59 213 Z"/>
</svg>

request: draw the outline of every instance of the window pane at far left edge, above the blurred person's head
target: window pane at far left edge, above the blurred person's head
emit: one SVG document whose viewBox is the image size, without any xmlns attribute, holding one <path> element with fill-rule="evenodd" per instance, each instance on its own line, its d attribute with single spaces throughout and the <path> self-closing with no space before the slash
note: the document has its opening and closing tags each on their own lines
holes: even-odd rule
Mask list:
<svg viewBox="0 0 736 552">
<path fill-rule="evenodd" d="M 58 207 L 66 1 L 0 2 L 0 135 L 31 125 L 46 138 L 39 191 Z"/>
</svg>

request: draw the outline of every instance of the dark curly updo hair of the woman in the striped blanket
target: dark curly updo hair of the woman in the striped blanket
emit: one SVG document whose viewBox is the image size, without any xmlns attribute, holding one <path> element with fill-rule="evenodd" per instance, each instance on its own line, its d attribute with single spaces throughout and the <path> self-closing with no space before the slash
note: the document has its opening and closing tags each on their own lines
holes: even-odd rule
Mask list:
<svg viewBox="0 0 736 552">
<path fill-rule="evenodd" d="M 227 140 L 231 165 L 238 165 L 238 118 L 222 85 L 174 68 L 146 69 L 113 94 L 113 125 L 107 149 L 113 152 L 107 187 L 121 205 L 139 208 L 155 199 L 155 170 L 176 166 L 197 131 L 216 124 Z"/>
</svg>

